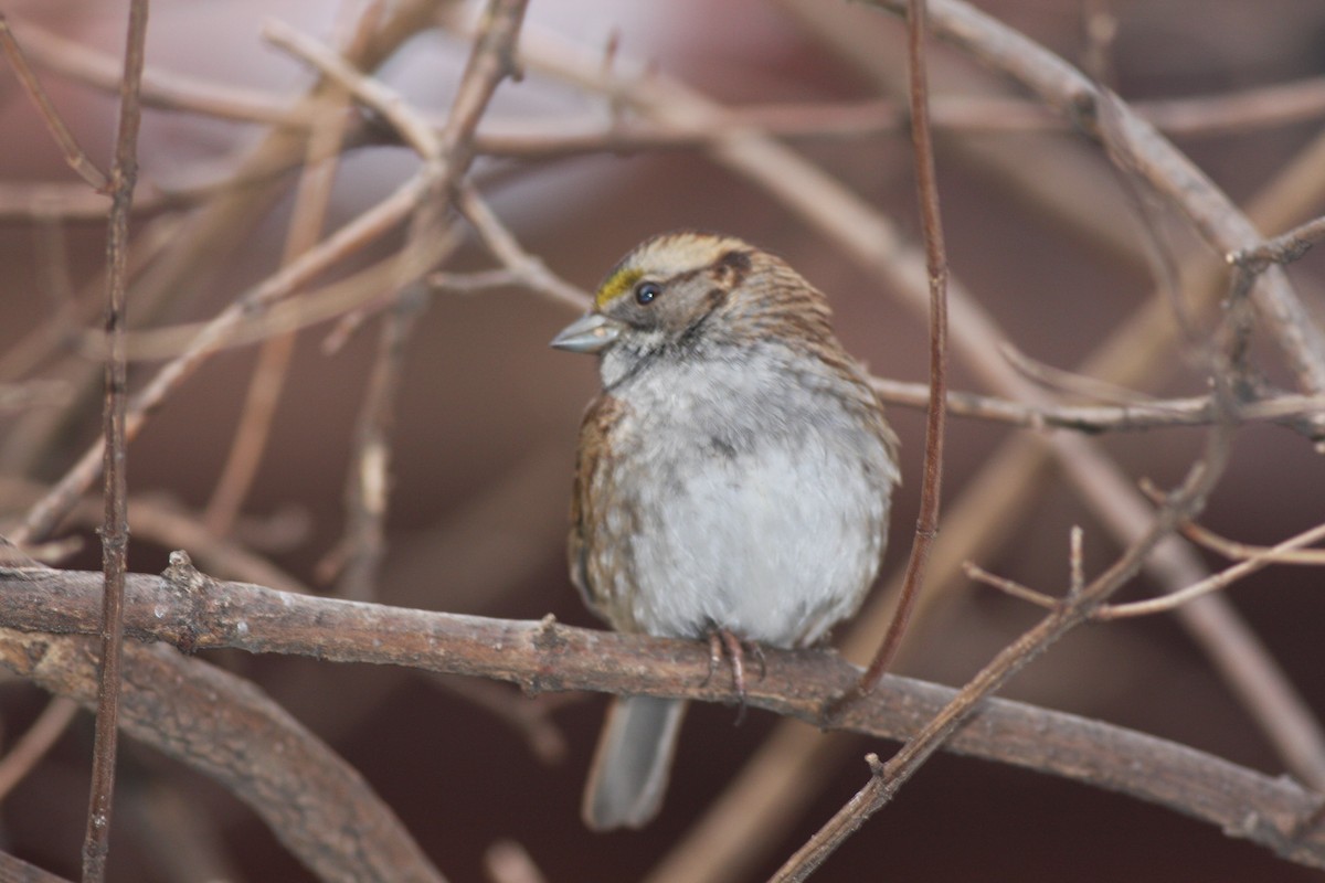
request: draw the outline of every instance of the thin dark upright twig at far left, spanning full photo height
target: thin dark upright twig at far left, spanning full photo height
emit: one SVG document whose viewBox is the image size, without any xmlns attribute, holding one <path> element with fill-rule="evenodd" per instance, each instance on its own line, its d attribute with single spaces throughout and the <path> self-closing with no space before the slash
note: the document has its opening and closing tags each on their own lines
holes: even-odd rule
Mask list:
<svg viewBox="0 0 1325 883">
<path fill-rule="evenodd" d="M 125 572 L 129 563 L 129 441 L 125 412 L 129 398 L 129 363 L 125 357 L 125 301 L 129 287 L 129 216 L 138 183 L 138 101 L 147 42 L 148 0 L 129 7 L 125 41 L 125 75 L 121 90 L 115 163 L 110 169 L 110 222 L 106 242 L 106 405 L 102 436 L 106 440 L 105 504 L 101 530 L 105 589 L 101 621 L 101 683 L 97 694 L 97 729 L 93 744 L 91 796 L 82 849 L 82 879 L 101 883 L 110 853 L 110 813 L 115 792 L 115 759 L 119 737 L 119 682 L 123 657 Z"/>
</svg>

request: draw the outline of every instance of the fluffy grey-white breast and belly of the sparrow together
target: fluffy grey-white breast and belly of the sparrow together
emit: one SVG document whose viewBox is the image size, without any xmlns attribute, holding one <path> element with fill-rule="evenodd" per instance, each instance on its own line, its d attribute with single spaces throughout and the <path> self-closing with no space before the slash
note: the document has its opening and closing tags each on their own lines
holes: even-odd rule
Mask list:
<svg viewBox="0 0 1325 883">
<path fill-rule="evenodd" d="M 617 590 L 645 631 L 812 643 L 874 579 L 888 449 L 816 379 L 788 388 L 750 368 L 716 384 L 677 367 L 627 391 L 623 459 L 648 481 L 629 494 L 641 518 Z"/>
</svg>

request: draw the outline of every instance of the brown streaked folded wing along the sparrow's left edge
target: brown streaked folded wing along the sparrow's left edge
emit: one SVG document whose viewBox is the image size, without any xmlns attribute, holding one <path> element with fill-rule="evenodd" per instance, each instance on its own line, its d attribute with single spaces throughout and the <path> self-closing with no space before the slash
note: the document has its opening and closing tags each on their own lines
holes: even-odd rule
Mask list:
<svg viewBox="0 0 1325 883">
<path fill-rule="evenodd" d="M 602 486 L 599 470 L 608 466 L 611 454 L 608 437 L 612 426 L 620 418 L 625 405 L 608 395 L 600 395 L 590 402 L 580 424 L 579 447 L 575 454 L 575 486 L 571 490 L 571 531 L 566 540 L 571 582 L 579 589 L 584 604 L 604 620 L 612 621 L 606 586 L 595 586 L 590 576 L 588 556 L 595 543 L 595 526 L 600 524 L 602 512 L 595 511 L 590 488 L 595 481 Z"/>
</svg>

